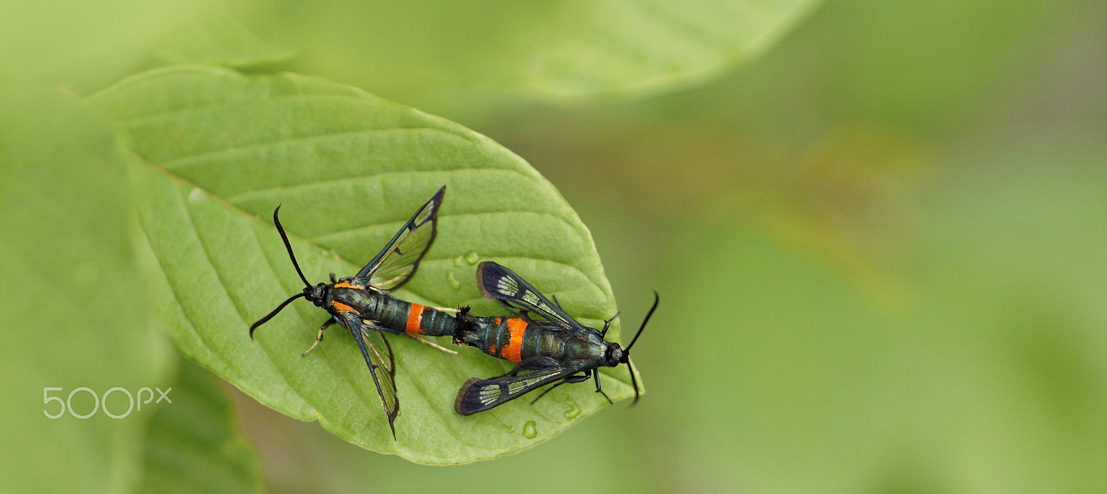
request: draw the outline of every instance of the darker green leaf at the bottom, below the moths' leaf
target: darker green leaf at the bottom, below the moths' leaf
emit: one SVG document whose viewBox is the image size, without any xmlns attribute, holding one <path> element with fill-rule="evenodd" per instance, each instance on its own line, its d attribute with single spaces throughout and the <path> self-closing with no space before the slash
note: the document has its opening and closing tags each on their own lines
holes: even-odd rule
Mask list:
<svg viewBox="0 0 1107 494">
<path fill-rule="evenodd" d="M 230 401 L 211 374 L 182 359 L 167 395 L 173 402 L 161 405 L 146 432 L 146 470 L 138 492 L 263 492 L 257 453 L 238 430 Z"/>
</svg>

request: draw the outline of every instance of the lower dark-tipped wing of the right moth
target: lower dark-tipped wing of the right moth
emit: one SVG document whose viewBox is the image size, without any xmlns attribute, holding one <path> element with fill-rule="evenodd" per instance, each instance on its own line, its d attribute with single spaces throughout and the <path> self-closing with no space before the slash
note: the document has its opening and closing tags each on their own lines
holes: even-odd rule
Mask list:
<svg viewBox="0 0 1107 494">
<path fill-rule="evenodd" d="M 568 378 L 583 370 L 584 367 L 584 362 L 571 360 L 561 366 L 537 370 L 524 375 L 469 379 L 457 391 L 454 411 L 462 415 L 472 415 L 494 409 L 546 384 Z"/>
</svg>

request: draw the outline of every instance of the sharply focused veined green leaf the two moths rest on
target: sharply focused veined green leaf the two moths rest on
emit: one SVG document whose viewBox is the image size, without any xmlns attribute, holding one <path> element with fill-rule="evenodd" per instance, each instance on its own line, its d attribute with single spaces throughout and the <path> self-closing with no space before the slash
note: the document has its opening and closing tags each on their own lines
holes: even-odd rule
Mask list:
<svg viewBox="0 0 1107 494">
<path fill-rule="evenodd" d="M 487 137 L 296 74 L 170 68 L 91 101 L 117 122 L 136 157 L 141 223 L 178 347 L 258 401 L 318 419 L 363 447 L 433 464 L 518 452 L 607 404 L 590 384 L 566 385 L 535 405 L 516 400 L 461 416 L 453 410 L 461 384 L 504 373 L 509 362 L 392 338 L 401 400 L 393 441 L 352 338 L 331 330 L 300 357 L 325 312 L 293 303 L 259 328 L 257 341 L 248 337 L 250 323 L 303 288 L 270 223 L 273 207 L 282 204 L 300 266 L 320 281 L 355 272 L 443 184 L 438 237 L 399 297 L 505 313 L 474 281 L 476 261 L 495 259 L 557 295 L 581 322 L 598 326 L 615 313 L 588 228 L 552 185 Z M 617 320 L 609 339 L 618 335 Z M 633 393 L 623 368 L 602 381 L 613 400 Z M 536 434 L 527 438 L 531 422 Z"/>
</svg>

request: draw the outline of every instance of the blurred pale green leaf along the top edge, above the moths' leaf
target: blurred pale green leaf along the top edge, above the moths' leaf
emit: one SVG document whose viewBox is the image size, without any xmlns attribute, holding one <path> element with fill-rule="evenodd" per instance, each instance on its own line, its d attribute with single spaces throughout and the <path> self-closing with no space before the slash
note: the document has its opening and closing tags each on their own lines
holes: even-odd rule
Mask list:
<svg viewBox="0 0 1107 494">
<path fill-rule="evenodd" d="M 302 72 L 384 94 L 462 86 L 561 100 L 702 82 L 772 47 L 818 1 L 267 3 L 247 22 L 311 53 Z"/>
</svg>

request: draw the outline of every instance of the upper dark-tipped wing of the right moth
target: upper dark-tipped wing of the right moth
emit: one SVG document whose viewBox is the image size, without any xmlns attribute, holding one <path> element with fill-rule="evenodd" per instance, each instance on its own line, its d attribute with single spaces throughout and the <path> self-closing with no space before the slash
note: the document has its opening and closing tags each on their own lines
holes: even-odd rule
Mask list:
<svg viewBox="0 0 1107 494">
<path fill-rule="evenodd" d="M 486 260 L 477 266 L 477 288 L 486 298 L 498 299 L 520 317 L 547 329 L 588 331 L 515 271 L 496 263 Z"/>
</svg>

